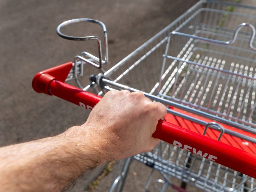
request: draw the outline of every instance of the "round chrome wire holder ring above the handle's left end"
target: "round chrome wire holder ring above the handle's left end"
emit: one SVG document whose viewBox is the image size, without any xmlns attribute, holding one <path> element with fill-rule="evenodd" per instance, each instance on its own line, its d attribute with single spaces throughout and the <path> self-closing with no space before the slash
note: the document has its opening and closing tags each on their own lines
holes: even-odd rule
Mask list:
<svg viewBox="0 0 256 192">
<path fill-rule="evenodd" d="M 99 24 L 102 29 L 103 29 L 103 36 L 104 36 L 104 46 L 105 46 L 105 52 L 104 52 L 104 57 L 105 60 L 102 60 L 102 50 L 101 50 L 101 40 L 100 37 L 98 36 L 68 36 L 65 35 L 63 33 L 60 32 L 60 29 L 64 26 L 67 26 L 69 24 L 72 23 L 78 23 L 78 22 L 91 22 L 91 23 L 96 23 Z M 98 43 L 98 52 L 99 52 L 99 58 L 95 57 L 94 55 L 88 53 L 88 52 L 83 52 L 82 56 L 77 55 L 75 57 L 75 61 L 74 63 L 76 64 L 76 60 L 80 60 L 81 62 L 85 62 L 89 65 L 92 65 L 95 68 L 101 68 L 102 64 L 107 64 L 108 63 L 108 35 L 107 35 L 107 28 L 104 25 L 104 23 L 102 23 L 101 21 L 98 20 L 93 20 L 93 19 L 87 19 L 87 18 L 81 18 L 81 19 L 72 19 L 72 20 L 68 20 L 68 21 L 64 21 L 63 23 L 61 23 L 58 27 L 57 27 L 57 34 L 64 38 L 64 39 L 68 39 L 68 40 L 76 40 L 76 41 L 86 41 L 86 40 L 97 40 Z M 84 58 L 84 56 L 89 57 L 90 59 L 86 59 Z M 99 63 L 99 64 L 97 64 Z"/>
</svg>

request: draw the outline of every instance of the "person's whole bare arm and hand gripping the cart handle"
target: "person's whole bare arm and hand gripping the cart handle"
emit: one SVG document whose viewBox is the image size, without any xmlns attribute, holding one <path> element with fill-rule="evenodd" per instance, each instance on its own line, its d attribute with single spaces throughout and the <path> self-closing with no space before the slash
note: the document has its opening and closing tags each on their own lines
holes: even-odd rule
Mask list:
<svg viewBox="0 0 256 192">
<path fill-rule="evenodd" d="M 110 91 L 86 123 L 40 140 L 0 148 L 4 191 L 60 191 L 86 170 L 150 151 L 163 104 L 141 92 Z M 11 182 L 10 182 L 11 181 Z"/>
</svg>

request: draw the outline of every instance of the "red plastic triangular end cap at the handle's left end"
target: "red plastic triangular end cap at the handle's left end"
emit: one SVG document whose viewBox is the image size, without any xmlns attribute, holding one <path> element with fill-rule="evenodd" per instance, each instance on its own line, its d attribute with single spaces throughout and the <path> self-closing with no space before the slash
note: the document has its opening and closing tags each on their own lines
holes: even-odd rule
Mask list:
<svg viewBox="0 0 256 192">
<path fill-rule="evenodd" d="M 58 81 L 64 82 L 71 68 L 72 68 L 72 62 L 68 62 L 62 65 L 38 72 L 32 80 L 33 89 L 38 93 L 45 93 L 47 95 L 51 95 L 51 93 L 48 92 L 48 85 L 55 79 Z"/>
</svg>

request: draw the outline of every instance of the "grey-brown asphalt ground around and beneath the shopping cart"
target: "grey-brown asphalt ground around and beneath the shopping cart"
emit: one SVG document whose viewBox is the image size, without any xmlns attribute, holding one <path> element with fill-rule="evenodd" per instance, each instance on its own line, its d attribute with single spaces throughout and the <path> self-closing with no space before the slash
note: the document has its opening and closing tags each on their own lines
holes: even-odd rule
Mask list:
<svg viewBox="0 0 256 192">
<path fill-rule="evenodd" d="M 82 51 L 90 51 L 85 42 L 71 42 L 58 37 L 55 32 L 58 24 L 74 18 L 104 22 L 110 41 L 109 68 L 196 2 L 0 1 L 0 146 L 56 135 L 72 125 L 83 123 L 89 114 L 87 110 L 59 98 L 38 94 L 31 87 L 32 78 L 38 71 L 73 60 Z M 95 30 L 86 28 L 88 35 Z M 71 32 L 84 34 L 81 28 Z M 95 70 L 88 67 L 85 76 L 93 72 Z M 128 177 L 125 191 L 141 191 L 145 175 L 150 170 L 138 162 L 132 164 L 131 170 L 139 174 Z M 83 191 L 95 175 L 97 171 L 86 174 L 73 191 Z M 107 190 L 110 176 L 102 180 L 97 191 Z"/>
</svg>

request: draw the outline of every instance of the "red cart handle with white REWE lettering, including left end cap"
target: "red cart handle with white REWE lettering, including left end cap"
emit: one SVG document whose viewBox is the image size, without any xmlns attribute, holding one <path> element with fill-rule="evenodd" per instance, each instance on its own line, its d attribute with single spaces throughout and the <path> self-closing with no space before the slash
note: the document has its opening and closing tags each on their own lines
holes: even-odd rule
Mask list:
<svg viewBox="0 0 256 192">
<path fill-rule="evenodd" d="M 55 95 L 83 108 L 92 108 L 101 97 L 64 83 L 72 62 L 41 71 L 33 79 L 36 92 Z M 256 178 L 256 155 L 214 140 L 180 126 L 159 120 L 154 137 L 183 148 L 213 162 Z"/>
</svg>

